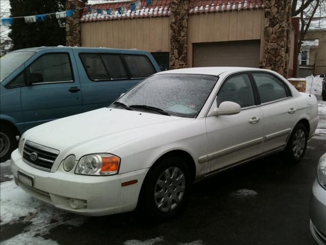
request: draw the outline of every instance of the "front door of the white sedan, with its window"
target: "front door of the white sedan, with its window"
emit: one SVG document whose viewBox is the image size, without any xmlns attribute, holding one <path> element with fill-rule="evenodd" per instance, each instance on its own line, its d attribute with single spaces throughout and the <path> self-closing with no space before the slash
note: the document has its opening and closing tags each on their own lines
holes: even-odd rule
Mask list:
<svg viewBox="0 0 326 245">
<path fill-rule="evenodd" d="M 207 171 L 227 168 L 261 154 L 263 114 L 256 107 L 248 74 L 229 78 L 220 89 L 213 106 L 232 101 L 241 106 L 235 115 L 206 117 L 207 155 L 200 159 Z"/>
</svg>

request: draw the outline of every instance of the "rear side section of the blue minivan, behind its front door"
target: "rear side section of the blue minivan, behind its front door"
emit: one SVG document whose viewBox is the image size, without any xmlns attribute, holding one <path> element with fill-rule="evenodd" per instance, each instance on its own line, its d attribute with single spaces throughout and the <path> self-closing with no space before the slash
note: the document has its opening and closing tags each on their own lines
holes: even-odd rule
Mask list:
<svg viewBox="0 0 326 245">
<path fill-rule="evenodd" d="M 156 72 L 145 55 L 74 50 L 83 90 L 83 111 L 109 106 Z"/>
</svg>

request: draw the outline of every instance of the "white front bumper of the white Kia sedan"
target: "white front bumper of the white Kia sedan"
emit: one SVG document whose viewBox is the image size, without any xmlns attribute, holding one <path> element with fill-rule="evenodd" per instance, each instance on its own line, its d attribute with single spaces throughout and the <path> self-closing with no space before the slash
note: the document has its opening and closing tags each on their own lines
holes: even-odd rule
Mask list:
<svg viewBox="0 0 326 245">
<path fill-rule="evenodd" d="M 18 170 L 33 177 L 33 187 L 18 180 Z M 24 163 L 15 150 L 11 155 L 11 171 L 16 184 L 33 197 L 69 212 L 100 216 L 134 210 L 148 168 L 114 176 L 83 176 L 75 175 L 74 168 L 66 172 L 60 166 L 51 173 Z M 138 182 L 121 186 L 131 180 Z M 69 204 L 71 199 L 78 202 L 77 209 Z"/>
</svg>

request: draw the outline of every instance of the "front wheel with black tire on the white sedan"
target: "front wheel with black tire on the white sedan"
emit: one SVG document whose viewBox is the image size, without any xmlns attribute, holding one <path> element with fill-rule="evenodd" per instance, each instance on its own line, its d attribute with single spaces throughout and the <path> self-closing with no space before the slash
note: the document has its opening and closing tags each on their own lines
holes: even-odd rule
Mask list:
<svg viewBox="0 0 326 245">
<path fill-rule="evenodd" d="M 180 171 L 175 169 L 179 169 Z M 171 180 L 167 180 L 165 182 L 165 186 L 159 187 L 157 182 L 159 181 L 159 179 L 162 180 L 162 178 L 166 177 L 166 170 L 168 170 L 171 174 Z M 177 174 L 174 174 L 174 176 L 177 177 L 172 177 L 173 170 L 176 171 L 175 173 Z M 181 173 L 184 177 L 183 193 L 181 190 L 183 188 L 183 180 L 181 177 Z M 180 183 L 177 184 L 178 186 L 176 186 L 177 182 L 175 182 L 173 178 L 179 178 L 178 180 L 180 181 Z M 155 220 L 165 220 L 172 218 L 177 213 L 179 213 L 186 204 L 186 200 L 190 193 L 192 184 L 192 174 L 185 160 L 175 156 L 161 159 L 159 160 L 159 162 L 157 162 L 150 168 L 145 178 L 141 190 L 139 208 L 142 209 L 142 211 L 146 212 L 147 217 L 154 218 Z M 178 191 L 180 191 L 179 194 Z M 164 195 L 165 197 L 154 198 L 155 192 L 160 192 L 160 194 Z M 164 198 L 168 198 L 169 201 L 167 201 L 166 205 L 161 205 L 161 207 L 159 208 L 157 205 L 160 201 L 162 203 L 165 203 L 165 201 L 163 200 Z M 179 203 L 177 204 L 174 200 L 178 200 Z M 169 208 L 169 203 L 171 203 L 171 209 Z"/>
</svg>

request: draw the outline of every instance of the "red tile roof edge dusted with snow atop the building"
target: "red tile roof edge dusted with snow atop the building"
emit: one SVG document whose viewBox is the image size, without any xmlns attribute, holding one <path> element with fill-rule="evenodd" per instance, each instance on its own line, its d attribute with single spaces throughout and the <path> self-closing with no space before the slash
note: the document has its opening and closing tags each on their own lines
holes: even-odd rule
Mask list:
<svg viewBox="0 0 326 245">
<path fill-rule="evenodd" d="M 259 9 L 264 7 L 265 0 L 189 0 L 189 14 L 201 14 L 208 12 L 223 12 L 246 9 Z M 141 8 L 131 12 L 131 1 L 113 2 L 88 5 L 84 8 L 80 21 L 99 21 L 99 20 L 114 20 L 114 19 L 130 19 L 130 18 L 148 18 L 148 17 L 164 17 L 170 16 L 171 0 L 155 0 L 147 6 L 146 1 L 141 1 Z M 126 13 L 119 14 L 118 8 L 125 6 Z M 89 13 L 89 7 L 97 9 L 114 9 L 114 13 L 107 15 L 105 13 Z"/>
</svg>

